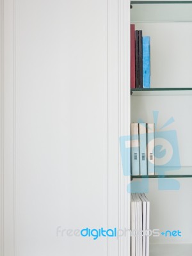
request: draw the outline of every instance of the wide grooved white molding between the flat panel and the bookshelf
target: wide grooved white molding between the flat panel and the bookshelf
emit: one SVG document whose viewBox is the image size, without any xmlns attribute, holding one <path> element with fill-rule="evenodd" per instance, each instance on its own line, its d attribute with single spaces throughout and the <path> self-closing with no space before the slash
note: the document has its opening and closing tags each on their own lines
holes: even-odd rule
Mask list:
<svg viewBox="0 0 192 256">
<path fill-rule="evenodd" d="M 129 8 L 129 0 L 108 0 L 108 223 L 122 230 L 130 229 L 130 177 L 124 176 L 119 145 L 130 127 Z M 109 256 L 130 255 L 126 236 L 108 243 Z"/>
</svg>

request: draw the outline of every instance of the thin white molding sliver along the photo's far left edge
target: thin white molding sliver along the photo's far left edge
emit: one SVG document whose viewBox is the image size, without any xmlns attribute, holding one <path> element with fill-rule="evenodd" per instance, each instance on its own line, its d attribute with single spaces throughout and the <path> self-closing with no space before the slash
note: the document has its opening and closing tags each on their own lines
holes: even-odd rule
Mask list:
<svg viewBox="0 0 192 256">
<path fill-rule="evenodd" d="M 4 19 L 4 7 L 3 7 L 3 0 L 1 0 L 1 25 L 0 25 L 0 35 L 1 35 L 1 39 L 0 39 L 0 98 L 1 98 L 1 106 L 0 106 L 0 120 L 1 120 L 1 124 L 0 124 L 0 145 L 1 145 L 1 149 L 0 149 L 0 256 L 4 255 L 4 170 L 3 170 L 3 152 L 4 152 L 4 140 L 3 140 L 3 40 L 4 40 L 4 36 L 3 36 L 3 19 Z"/>
</svg>

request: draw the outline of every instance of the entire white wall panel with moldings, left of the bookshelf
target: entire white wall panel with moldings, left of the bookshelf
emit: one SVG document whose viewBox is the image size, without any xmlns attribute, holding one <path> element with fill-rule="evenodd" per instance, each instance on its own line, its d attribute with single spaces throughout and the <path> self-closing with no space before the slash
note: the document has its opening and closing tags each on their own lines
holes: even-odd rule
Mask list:
<svg viewBox="0 0 192 256">
<path fill-rule="evenodd" d="M 128 3 L 2 4 L 3 256 L 129 251 L 126 237 L 56 236 L 60 226 L 129 227 L 118 150 L 129 121 Z"/>
</svg>

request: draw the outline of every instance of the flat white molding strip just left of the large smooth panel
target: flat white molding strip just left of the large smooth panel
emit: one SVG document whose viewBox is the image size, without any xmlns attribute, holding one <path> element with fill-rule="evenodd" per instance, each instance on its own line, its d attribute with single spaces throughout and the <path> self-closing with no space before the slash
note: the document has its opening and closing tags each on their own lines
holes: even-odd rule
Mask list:
<svg viewBox="0 0 192 256">
<path fill-rule="evenodd" d="M 4 46 L 3 46 L 3 140 L 4 140 L 4 255 L 15 255 L 14 219 L 14 0 L 4 1 Z"/>
</svg>

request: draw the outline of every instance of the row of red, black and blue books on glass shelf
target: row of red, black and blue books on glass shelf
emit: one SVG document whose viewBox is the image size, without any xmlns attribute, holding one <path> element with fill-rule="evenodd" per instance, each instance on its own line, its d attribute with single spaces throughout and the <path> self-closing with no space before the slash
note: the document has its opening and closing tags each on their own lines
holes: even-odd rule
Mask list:
<svg viewBox="0 0 192 256">
<path fill-rule="evenodd" d="M 131 88 L 150 88 L 150 36 L 131 24 Z"/>
</svg>

